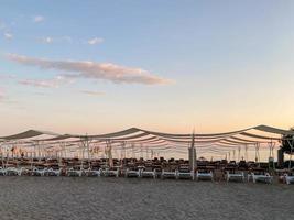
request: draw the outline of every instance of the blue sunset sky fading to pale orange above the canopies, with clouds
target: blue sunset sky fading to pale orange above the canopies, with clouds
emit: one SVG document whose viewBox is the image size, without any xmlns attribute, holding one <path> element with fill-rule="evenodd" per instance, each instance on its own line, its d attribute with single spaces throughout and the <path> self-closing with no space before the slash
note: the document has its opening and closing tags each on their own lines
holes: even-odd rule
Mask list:
<svg viewBox="0 0 294 220">
<path fill-rule="evenodd" d="M 0 2 L 0 134 L 294 125 L 294 1 Z"/>
</svg>

